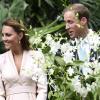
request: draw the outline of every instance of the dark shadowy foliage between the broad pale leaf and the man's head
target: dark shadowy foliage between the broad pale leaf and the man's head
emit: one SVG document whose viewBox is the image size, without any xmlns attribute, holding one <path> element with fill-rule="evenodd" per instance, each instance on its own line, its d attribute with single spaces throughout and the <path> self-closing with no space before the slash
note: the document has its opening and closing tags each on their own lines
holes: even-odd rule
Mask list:
<svg viewBox="0 0 100 100">
<path fill-rule="evenodd" d="M 33 27 L 43 27 L 52 23 L 64 8 L 68 0 L 25 0 L 28 7 L 25 10 L 26 22 Z"/>
</svg>

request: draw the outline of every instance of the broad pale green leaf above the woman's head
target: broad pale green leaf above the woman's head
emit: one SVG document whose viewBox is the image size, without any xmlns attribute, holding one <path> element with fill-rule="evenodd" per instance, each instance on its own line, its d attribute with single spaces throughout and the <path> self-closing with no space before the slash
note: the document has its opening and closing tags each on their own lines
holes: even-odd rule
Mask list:
<svg viewBox="0 0 100 100">
<path fill-rule="evenodd" d="M 2 22 L 7 18 L 24 18 L 24 10 L 27 3 L 24 0 L 1 0 L 0 1 L 0 27 Z"/>
</svg>

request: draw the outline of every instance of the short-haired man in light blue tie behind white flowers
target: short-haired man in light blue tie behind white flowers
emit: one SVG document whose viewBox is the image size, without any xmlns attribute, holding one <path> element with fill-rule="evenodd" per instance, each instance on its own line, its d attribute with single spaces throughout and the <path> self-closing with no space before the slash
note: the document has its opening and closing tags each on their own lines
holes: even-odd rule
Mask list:
<svg viewBox="0 0 100 100">
<path fill-rule="evenodd" d="M 72 4 L 64 9 L 64 21 L 66 30 L 71 40 L 76 40 L 74 46 L 77 46 L 75 57 L 82 61 L 94 61 L 98 59 L 97 47 L 99 40 L 97 34 L 94 34 L 88 28 L 89 10 L 83 4 Z M 77 42 L 78 41 L 78 42 Z"/>
</svg>

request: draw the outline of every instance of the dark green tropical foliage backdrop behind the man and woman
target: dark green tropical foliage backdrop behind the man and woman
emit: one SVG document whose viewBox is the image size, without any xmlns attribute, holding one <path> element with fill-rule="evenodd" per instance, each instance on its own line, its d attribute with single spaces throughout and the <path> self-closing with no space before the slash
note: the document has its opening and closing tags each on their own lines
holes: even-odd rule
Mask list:
<svg viewBox="0 0 100 100">
<path fill-rule="evenodd" d="M 61 14 L 66 6 L 75 2 L 83 3 L 89 8 L 89 27 L 99 30 L 100 0 L 0 0 L 0 28 L 5 19 L 12 17 L 26 23 L 30 36 L 36 35 L 34 32 L 41 35 L 59 31 L 65 33 Z M 3 50 L 1 48 L 2 45 L 0 51 Z"/>
</svg>

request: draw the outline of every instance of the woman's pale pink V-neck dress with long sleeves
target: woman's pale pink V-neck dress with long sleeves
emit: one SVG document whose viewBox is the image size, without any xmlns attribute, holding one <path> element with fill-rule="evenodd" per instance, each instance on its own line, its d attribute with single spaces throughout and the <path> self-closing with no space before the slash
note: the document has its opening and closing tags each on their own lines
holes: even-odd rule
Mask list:
<svg viewBox="0 0 100 100">
<path fill-rule="evenodd" d="M 24 51 L 18 73 L 11 51 L 0 55 L 0 100 L 46 100 L 47 75 L 38 51 Z"/>
</svg>

